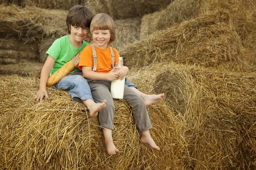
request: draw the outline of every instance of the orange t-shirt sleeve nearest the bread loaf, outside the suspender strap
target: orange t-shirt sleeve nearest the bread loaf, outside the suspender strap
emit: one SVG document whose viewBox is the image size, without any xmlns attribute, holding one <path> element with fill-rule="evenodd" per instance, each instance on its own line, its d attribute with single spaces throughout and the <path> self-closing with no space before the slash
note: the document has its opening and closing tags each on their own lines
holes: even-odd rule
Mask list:
<svg viewBox="0 0 256 170">
<path fill-rule="evenodd" d="M 90 45 L 87 45 L 81 53 L 78 68 L 82 70 L 83 66 L 93 68 L 93 51 Z"/>
</svg>

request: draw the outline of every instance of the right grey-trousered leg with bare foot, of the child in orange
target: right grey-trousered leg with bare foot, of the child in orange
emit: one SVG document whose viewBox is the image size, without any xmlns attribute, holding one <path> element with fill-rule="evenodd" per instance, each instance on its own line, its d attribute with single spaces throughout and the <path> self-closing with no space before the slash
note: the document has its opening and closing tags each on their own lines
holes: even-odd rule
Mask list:
<svg viewBox="0 0 256 170">
<path fill-rule="evenodd" d="M 134 119 L 136 120 L 138 130 L 141 133 L 141 142 L 148 144 L 152 149 L 160 150 L 160 147 L 158 147 L 151 138 L 149 129 L 151 129 L 152 126 L 142 97 L 125 85 L 124 99 L 132 107 Z"/>
</svg>

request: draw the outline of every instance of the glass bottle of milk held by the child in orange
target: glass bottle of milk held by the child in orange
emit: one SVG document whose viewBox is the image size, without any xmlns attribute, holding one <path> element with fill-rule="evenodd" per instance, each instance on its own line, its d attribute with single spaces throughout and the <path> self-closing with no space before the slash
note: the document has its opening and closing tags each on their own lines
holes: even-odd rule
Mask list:
<svg viewBox="0 0 256 170">
<path fill-rule="evenodd" d="M 116 62 L 116 67 L 121 67 L 123 65 L 123 58 L 119 57 Z M 116 69 L 115 72 L 117 72 L 118 69 Z M 110 93 L 113 99 L 123 99 L 124 97 L 124 89 L 125 89 L 125 78 L 120 80 L 114 80 L 111 82 L 111 88 Z"/>
</svg>

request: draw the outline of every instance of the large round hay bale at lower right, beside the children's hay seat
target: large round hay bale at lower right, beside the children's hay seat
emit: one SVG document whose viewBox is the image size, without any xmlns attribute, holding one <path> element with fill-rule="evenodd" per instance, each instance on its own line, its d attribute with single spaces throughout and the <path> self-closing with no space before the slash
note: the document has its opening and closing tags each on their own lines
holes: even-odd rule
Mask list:
<svg viewBox="0 0 256 170">
<path fill-rule="evenodd" d="M 255 169 L 256 74 L 163 64 L 154 90 L 183 115 L 188 169 Z"/>
</svg>

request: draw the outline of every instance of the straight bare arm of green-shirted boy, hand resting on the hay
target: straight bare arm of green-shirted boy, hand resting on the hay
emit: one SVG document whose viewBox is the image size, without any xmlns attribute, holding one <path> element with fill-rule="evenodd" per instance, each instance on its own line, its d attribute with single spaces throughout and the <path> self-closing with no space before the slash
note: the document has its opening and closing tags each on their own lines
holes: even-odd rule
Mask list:
<svg viewBox="0 0 256 170">
<path fill-rule="evenodd" d="M 41 71 L 41 77 L 40 77 L 40 87 L 39 87 L 39 91 L 37 92 L 37 94 L 35 95 L 36 101 L 42 101 L 44 96 L 46 96 L 47 98 L 49 98 L 48 94 L 47 94 L 47 90 L 46 90 L 46 83 L 47 80 L 49 78 L 50 72 L 52 70 L 52 67 L 55 63 L 55 59 L 52 58 L 52 56 L 48 55 L 44 66 L 42 68 Z"/>
</svg>

